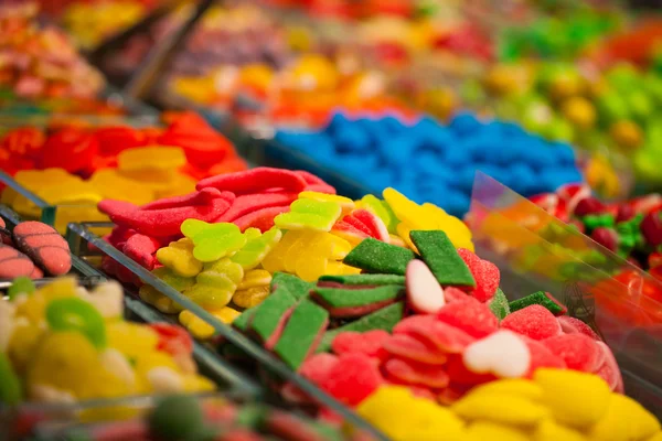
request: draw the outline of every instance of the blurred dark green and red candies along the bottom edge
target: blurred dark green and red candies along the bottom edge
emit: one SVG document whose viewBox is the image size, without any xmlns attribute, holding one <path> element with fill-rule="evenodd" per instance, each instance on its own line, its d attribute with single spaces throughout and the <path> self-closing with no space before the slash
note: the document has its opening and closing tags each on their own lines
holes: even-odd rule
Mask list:
<svg viewBox="0 0 662 441">
<path fill-rule="evenodd" d="M 159 400 L 154 408 L 139 420 L 86 426 L 56 431 L 53 438 L 39 438 L 40 441 L 55 439 L 360 441 L 371 438 L 361 433 L 346 434 L 331 426 L 263 404 L 235 404 L 225 398 L 196 399 L 174 395 Z"/>
</svg>

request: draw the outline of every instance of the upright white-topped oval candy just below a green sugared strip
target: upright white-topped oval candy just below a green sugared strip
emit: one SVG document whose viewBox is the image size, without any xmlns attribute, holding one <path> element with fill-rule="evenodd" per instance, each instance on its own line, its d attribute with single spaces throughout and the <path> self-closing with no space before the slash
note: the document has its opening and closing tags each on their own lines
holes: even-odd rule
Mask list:
<svg viewBox="0 0 662 441">
<path fill-rule="evenodd" d="M 414 259 L 406 270 L 409 306 L 423 314 L 434 314 L 446 304 L 444 289 L 423 261 Z"/>
</svg>

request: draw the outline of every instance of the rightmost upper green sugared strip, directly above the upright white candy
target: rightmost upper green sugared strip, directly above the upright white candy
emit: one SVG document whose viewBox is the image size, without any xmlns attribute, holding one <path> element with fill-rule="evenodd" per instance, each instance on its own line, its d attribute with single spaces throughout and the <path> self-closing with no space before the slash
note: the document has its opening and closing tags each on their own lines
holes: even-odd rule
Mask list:
<svg viewBox="0 0 662 441">
<path fill-rule="evenodd" d="M 476 287 L 469 267 L 458 255 L 446 233 L 439 229 L 412 232 L 409 237 L 440 284 Z"/>
</svg>

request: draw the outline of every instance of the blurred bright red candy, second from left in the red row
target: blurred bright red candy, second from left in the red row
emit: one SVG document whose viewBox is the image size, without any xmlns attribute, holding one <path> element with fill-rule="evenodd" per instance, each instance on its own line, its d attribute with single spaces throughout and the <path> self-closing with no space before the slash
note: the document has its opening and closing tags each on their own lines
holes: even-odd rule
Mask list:
<svg viewBox="0 0 662 441">
<path fill-rule="evenodd" d="M 98 149 L 94 136 L 76 128 L 64 128 L 44 143 L 41 166 L 61 168 L 71 173 L 89 172 Z"/>
</svg>

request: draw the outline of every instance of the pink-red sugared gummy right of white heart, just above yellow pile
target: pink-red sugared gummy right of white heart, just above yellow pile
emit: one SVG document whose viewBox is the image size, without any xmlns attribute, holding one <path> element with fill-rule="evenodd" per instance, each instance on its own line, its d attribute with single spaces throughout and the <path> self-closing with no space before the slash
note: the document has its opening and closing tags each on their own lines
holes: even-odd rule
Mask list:
<svg viewBox="0 0 662 441">
<path fill-rule="evenodd" d="M 592 373 L 605 359 L 597 342 L 584 334 L 560 334 L 543 341 L 543 344 L 563 358 L 569 369 Z"/>
</svg>

